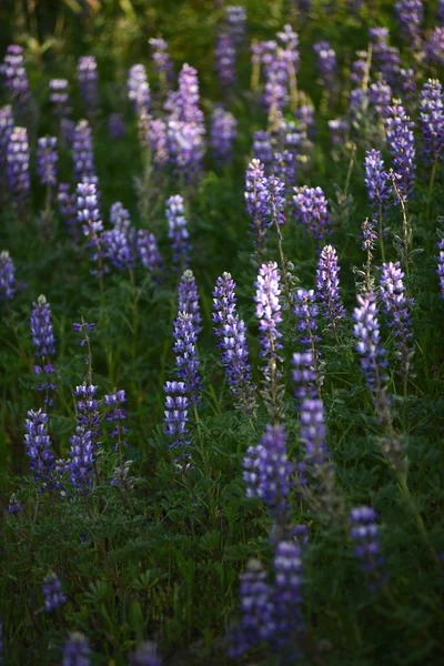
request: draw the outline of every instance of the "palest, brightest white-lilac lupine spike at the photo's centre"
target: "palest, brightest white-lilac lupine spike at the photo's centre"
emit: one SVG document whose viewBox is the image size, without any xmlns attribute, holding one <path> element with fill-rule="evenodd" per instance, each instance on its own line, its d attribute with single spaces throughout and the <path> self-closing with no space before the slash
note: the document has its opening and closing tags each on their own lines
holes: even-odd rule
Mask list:
<svg viewBox="0 0 444 666">
<path fill-rule="evenodd" d="M 282 349 L 280 339 L 282 333 L 279 324 L 282 322 L 280 304 L 280 282 L 281 275 L 276 262 L 262 264 L 259 270 L 258 281 L 255 282 L 256 295 L 256 316 L 259 319 L 259 330 L 262 333 L 261 356 L 265 360 L 278 359 L 279 351 Z"/>
</svg>

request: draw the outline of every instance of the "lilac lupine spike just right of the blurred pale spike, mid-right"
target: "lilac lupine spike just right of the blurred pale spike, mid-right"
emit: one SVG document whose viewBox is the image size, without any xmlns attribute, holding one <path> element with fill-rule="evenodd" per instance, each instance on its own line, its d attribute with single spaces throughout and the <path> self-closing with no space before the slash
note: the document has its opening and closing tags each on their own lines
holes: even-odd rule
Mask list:
<svg viewBox="0 0 444 666">
<path fill-rule="evenodd" d="M 404 272 L 400 262 L 382 264 L 380 286 L 383 312 L 387 317 L 387 326 L 396 339 L 396 353 L 401 360 L 402 374 L 406 377 L 413 356 L 410 309 L 414 305 L 414 300 L 405 295 Z"/>
</svg>

